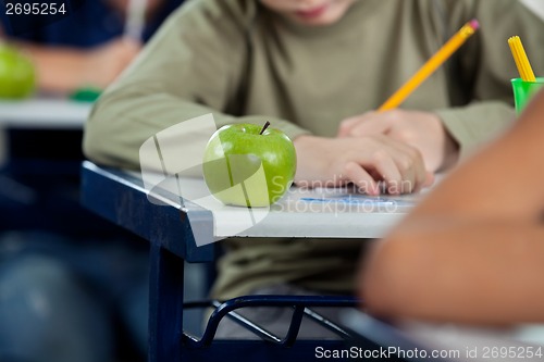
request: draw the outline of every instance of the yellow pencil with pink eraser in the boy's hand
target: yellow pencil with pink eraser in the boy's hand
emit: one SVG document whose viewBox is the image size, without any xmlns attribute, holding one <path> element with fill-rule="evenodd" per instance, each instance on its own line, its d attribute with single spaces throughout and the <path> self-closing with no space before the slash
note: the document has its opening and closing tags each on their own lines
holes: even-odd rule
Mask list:
<svg viewBox="0 0 544 362">
<path fill-rule="evenodd" d="M 379 108 L 379 111 L 387 111 L 400 105 L 406 98 L 423 83 L 438 66 L 441 66 L 452 54 L 459 49 L 463 42 L 480 27 L 477 20 L 465 24 L 393 96 Z"/>
</svg>

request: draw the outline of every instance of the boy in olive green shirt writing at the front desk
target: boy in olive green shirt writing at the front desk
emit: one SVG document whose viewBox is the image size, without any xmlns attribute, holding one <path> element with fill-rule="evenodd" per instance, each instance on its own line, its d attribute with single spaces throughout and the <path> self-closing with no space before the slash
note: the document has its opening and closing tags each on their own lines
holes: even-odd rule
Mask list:
<svg viewBox="0 0 544 362">
<path fill-rule="evenodd" d="M 473 17 L 481 32 L 401 109 L 368 113 Z M 197 0 L 108 89 L 84 150 L 134 168 L 146 139 L 211 112 L 218 126 L 270 121 L 286 132 L 299 185 L 378 194 L 378 182 L 408 182 L 404 191 L 415 191 L 510 123 L 516 68 L 505 39 L 539 49 L 542 30 L 516 0 Z M 531 59 L 542 72 L 544 54 Z M 212 294 L 351 294 L 363 245 L 230 239 Z"/>
</svg>

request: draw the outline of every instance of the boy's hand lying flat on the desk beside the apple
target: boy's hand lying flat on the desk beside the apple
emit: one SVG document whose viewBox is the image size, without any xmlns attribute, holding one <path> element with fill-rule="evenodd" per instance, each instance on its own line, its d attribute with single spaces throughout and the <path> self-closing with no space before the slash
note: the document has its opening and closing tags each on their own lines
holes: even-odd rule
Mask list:
<svg viewBox="0 0 544 362">
<path fill-rule="evenodd" d="M 421 153 L 384 135 L 295 139 L 298 186 L 329 187 L 355 184 L 379 195 L 382 182 L 388 194 L 415 192 L 432 184 Z"/>
</svg>

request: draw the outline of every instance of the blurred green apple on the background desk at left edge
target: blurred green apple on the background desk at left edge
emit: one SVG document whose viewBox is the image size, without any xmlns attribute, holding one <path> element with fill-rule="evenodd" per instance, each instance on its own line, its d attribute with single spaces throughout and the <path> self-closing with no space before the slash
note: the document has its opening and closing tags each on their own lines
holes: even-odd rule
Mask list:
<svg viewBox="0 0 544 362">
<path fill-rule="evenodd" d="M 32 61 L 15 48 L 0 43 L 0 99 L 29 97 L 36 87 Z"/>
</svg>

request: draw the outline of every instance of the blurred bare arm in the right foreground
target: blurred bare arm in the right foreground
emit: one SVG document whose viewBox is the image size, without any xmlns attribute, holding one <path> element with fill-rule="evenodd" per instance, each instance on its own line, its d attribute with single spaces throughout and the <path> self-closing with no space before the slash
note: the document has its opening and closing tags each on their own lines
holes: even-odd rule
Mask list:
<svg viewBox="0 0 544 362">
<path fill-rule="evenodd" d="M 361 296 L 381 315 L 544 322 L 544 93 L 514 129 L 378 241 Z"/>
</svg>

